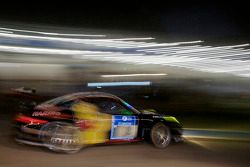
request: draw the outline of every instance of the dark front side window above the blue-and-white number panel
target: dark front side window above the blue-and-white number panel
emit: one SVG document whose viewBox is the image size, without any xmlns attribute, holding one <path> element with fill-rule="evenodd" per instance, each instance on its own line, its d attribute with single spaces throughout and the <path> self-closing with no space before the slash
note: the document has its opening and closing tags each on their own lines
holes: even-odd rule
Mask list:
<svg viewBox="0 0 250 167">
<path fill-rule="evenodd" d="M 91 102 L 97 105 L 101 112 L 112 114 L 112 115 L 132 115 L 133 112 L 124 106 L 122 106 L 118 101 L 108 98 L 93 98 Z"/>
</svg>

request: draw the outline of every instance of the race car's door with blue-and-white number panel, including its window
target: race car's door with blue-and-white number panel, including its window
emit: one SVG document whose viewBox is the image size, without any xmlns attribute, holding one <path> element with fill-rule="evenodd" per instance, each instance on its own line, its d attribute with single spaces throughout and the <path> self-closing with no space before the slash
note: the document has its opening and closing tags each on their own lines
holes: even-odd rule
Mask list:
<svg viewBox="0 0 250 167">
<path fill-rule="evenodd" d="M 112 117 L 110 141 L 129 141 L 138 137 L 139 119 L 130 105 L 113 98 L 94 98 L 92 103 L 100 108 L 100 112 Z"/>
</svg>

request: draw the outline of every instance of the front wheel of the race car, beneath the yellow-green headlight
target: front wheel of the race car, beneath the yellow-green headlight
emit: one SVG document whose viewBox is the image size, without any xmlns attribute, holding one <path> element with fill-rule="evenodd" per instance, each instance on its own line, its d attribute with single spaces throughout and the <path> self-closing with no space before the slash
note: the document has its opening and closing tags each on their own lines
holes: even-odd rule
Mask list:
<svg viewBox="0 0 250 167">
<path fill-rule="evenodd" d="M 168 126 L 159 122 L 152 127 L 150 137 L 155 147 L 163 149 L 171 141 L 171 132 Z"/>
</svg>

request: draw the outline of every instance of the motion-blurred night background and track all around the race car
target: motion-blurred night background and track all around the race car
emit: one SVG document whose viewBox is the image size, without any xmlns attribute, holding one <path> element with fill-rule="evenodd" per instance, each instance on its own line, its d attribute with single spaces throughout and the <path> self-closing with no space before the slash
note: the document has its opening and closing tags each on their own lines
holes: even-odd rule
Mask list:
<svg viewBox="0 0 250 167">
<path fill-rule="evenodd" d="M 240 1 L 1 5 L 0 165 L 247 166 L 249 37 L 248 6 Z M 34 95 L 17 94 L 23 87 Z M 137 109 L 176 116 L 187 142 L 57 155 L 10 141 L 20 101 L 79 91 L 109 92 Z"/>
</svg>

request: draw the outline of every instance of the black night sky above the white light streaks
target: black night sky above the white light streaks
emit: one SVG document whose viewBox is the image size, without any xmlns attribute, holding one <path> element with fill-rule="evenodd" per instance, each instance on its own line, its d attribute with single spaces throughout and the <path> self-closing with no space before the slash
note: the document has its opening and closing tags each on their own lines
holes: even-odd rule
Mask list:
<svg viewBox="0 0 250 167">
<path fill-rule="evenodd" d="M 186 36 L 250 36 L 248 4 L 242 1 L 79 2 L 1 5 L 0 20 Z"/>
</svg>

